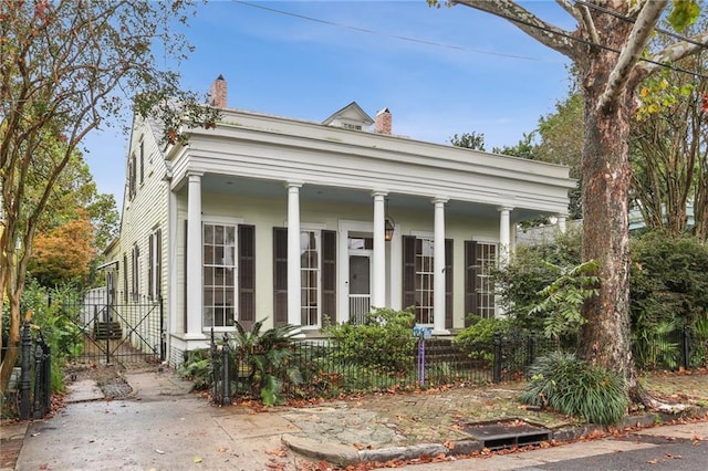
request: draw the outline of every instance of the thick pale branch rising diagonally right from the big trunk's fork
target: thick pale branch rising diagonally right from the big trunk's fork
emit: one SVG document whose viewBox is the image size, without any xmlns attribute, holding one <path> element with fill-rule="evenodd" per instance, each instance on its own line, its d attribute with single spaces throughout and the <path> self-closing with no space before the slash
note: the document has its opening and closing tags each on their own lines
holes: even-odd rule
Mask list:
<svg viewBox="0 0 708 471">
<path fill-rule="evenodd" d="M 615 67 L 610 73 L 605 91 L 600 97 L 600 109 L 612 106 L 624 92 L 633 69 L 636 66 L 642 52 L 646 48 L 654 27 L 656 25 L 668 0 L 647 1 L 637 15 L 632 32 L 625 42 Z"/>
</svg>

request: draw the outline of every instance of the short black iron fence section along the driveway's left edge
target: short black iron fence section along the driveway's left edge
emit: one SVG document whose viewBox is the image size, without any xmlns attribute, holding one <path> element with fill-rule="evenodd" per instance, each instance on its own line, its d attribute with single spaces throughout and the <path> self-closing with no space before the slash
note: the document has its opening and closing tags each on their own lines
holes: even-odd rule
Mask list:
<svg viewBox="0 0 708 471">
<path fill-rule="evenodd" d="M 51 409 L 52 353 L 41 331 L 32 335 L 29 322 L 20 337 L 20 375 L 15 385 L 20 420 L 41 419 Z"/>
</svg>

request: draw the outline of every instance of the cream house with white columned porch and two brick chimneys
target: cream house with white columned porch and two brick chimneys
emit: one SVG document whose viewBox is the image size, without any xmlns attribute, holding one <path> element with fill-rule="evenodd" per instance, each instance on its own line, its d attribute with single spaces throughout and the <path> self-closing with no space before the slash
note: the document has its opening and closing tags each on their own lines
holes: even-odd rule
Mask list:
<svg viewBox="0 0 708 471">
<path fill-rule="evenodd" d="M 446 334 L 493 316 L 488 268 L 517 222 L 564 217 L 575 185 L 565 167 L 396 136 L 388 109 L 352 103 L 323 123 L 233 109 L 221 76 L 210 101 L 220 122 L 185 127 L 186 146 L 135 121 L 107 264 L 116 299 L 162 300 L 171 364 L 235 321 L 317 335 L 415 306 Z"/>
</svg>

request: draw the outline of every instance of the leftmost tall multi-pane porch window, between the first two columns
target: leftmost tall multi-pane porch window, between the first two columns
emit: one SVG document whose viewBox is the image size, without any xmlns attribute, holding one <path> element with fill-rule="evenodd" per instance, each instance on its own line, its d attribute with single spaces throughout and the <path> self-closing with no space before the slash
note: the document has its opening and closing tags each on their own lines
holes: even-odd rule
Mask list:
<svg viewBox="0 0 708 471">
<path fill-rule="evenodd" d="M 204 326 L 236 320 L 236 226 L 204 224 Z"/>
</svg>

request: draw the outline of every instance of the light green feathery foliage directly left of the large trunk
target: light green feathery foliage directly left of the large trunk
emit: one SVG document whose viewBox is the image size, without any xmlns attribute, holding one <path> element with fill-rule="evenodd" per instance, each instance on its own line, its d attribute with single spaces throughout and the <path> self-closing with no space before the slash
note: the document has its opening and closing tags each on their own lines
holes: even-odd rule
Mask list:
<svg viewBox="0 0 708 471">
<path fill-rule="evenodd" d="M 559 276 L 539 292 L 543 301 L 530 314 L 548 313 L 543 322 L 543 335 L 560 347 L 561 338 L 573 335 L 586 321 L 581 315 L 585 300 L 600 293 L 597 263 L 594 261 L 563 268 L 545 262 Z"/>
</svg>

